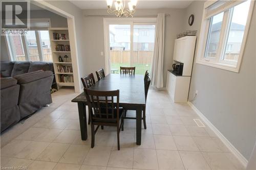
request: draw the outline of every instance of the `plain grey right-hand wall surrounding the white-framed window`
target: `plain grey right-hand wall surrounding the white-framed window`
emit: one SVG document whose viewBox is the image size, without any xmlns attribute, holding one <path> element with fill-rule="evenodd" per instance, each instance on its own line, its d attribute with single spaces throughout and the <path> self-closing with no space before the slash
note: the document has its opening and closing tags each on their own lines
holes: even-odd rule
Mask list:
<svg viewBox="0 0 256 170">
<path fill-rule="evenodd" d="M 186 9 L 184 30 L 200 31 L 203 4 L 202 1 L 195 1 Z M 190 14 L 195 15 L 192 27 L 187 23 Z M 189 92 L 191 100 L 194 98 L 195 91 L 199 91 L 193 104 L 247 160 L 256 140 L 255 31 L 256 9 L 254 7 L 240 72 L 200 65 L 194 61 Z M 197 49 L 198 45 L 196 51 Z"/>
</svg>

